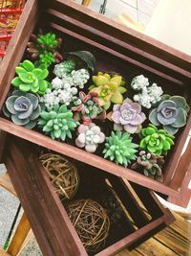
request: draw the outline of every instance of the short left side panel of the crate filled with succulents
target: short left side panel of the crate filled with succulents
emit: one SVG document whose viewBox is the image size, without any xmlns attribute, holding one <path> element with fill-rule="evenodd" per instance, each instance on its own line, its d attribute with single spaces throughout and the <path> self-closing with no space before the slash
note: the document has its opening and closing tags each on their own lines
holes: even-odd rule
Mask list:
<svg viewBox="0 0 191 256">
<path fill-rule="evenodd" d="M 14 67 L 20 62 L 30 35 L 38 20 L 38 0 L 28 0 L 11 38 L 6 56 L 0 65 L 0 108 L 5 102 L 14 77 Z"/>
</svg>

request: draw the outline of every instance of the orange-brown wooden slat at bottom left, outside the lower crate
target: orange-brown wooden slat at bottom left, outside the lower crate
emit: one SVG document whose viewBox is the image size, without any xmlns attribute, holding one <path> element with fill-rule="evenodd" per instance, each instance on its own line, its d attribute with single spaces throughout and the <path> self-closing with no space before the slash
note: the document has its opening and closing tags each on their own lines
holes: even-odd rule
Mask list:
<svg viewBox="0 0 191 256">
<path fill-rule="evenodd" d="M 27 217 L 25 216 L 25 213 L 24 213 L 11 239 L 11 244 L 8 247 L 8 252 L 11 254 L 11 256 L 17 255 L 30 229 L 31 229 L 30 222 L 27 220 Z"/>
</svg>

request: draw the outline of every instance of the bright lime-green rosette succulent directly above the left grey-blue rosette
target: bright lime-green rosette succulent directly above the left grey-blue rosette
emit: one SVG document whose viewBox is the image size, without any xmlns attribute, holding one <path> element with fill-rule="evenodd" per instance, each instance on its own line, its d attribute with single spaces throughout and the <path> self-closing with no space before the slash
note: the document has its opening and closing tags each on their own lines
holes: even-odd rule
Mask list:
<svg viewBox="0 0 191 256">
<path fill-rule="evenodd" d="M 23 92 L 32 91 L 43 95 L 50 86 L 49 81 L 45 80 L 49 71 L 44 65 L 36 68 L 30 60 L 24 60 L 15 67 L 15 73 L 18 77 L 15 77 L 11 84 Z"/>
</svg>

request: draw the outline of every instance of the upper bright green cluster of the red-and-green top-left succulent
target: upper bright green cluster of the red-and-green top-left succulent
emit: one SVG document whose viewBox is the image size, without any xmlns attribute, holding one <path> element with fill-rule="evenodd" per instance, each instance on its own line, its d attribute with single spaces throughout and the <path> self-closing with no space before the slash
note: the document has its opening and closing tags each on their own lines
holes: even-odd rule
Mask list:
<svg viewBox="0 0 191 256">
<path fill-rule="evenodd" d="M 53 51 L 58 46 L 58 40 L 53 33 L 47 33 L 45 35 L 38 35 L 37 43 L 41 45 L 45 50 Z"/>
</svg>

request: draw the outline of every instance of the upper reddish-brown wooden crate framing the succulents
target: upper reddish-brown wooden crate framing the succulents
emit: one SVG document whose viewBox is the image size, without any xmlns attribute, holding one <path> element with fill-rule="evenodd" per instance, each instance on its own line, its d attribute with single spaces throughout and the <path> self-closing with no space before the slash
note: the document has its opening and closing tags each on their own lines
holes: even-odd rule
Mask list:
<svg viewBox="0 0 191 256">
<path fill-rule="evenodd" d="M 186 97 L 190 104 L 191 58 L 146 35 L 123 27 L 101 14 L 92 12 L 70 0 L 29 0 L 20 23 L 13 35 L 7 56 L 1 65 L 0 107 L 4 105 L 14 77 L 14 67 L 21 61 L 36 24 L 46 25 L 65 38 L 66 50 L 85 49 L 97 58 L 97 67 L 127 74 L 130 82 L 135 75 L 143 74 L 172 92 Z M 18 127 L 0 117 L 0 128 L 33 143 L 52 149 L 70 157 L 91 164 L 108 173 L 127 178 L 140 185 L 166 195 L 168 201 L 186 206 L 191 190 L 191 115 L 187 125 L 181 129 L 170 160 L 165 166 L 164 182 L 140 175 L 128 168 L 99 157 L 96 154 L 77 149 L 66 143 L 26 128 Z M 4 132 L 1 132 L 4 137 Z M 3 141 L 3 139 L 2 139 Z M 1 144 L 3 148 L 3 143 Z M 2 149 L 1 149 L 2 151 Z"/>
</svg>

